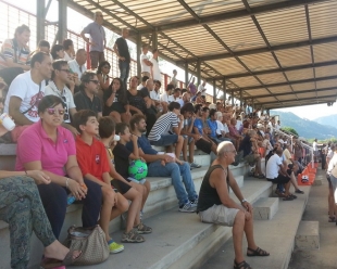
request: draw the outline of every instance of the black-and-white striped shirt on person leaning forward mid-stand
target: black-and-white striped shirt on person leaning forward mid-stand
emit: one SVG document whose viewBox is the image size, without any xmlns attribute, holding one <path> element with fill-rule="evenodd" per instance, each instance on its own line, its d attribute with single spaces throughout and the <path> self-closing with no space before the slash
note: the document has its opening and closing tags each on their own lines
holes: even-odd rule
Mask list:
<svg viewBox="0 0 337 269">
<path fill-rule="evenodd" d="M 162 134 L 168 134 L 173 127 L 178 127 L 178 116 L 173 112 L 167 112 L 157 119 L 148 139 L 150 141 L 158 141 Z"/>
</svg>

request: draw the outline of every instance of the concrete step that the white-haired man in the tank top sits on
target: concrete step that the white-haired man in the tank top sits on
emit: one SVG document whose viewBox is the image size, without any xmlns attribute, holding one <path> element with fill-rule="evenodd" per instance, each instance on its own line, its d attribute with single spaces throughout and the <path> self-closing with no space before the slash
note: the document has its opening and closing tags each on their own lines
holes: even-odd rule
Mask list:
<svg viewBox="0 0 337 269">
<path fill-rule="evenodd" d="M 254 179 L 245 182 L 241 191 L 244 196 L 253 203 L 261 196 L 267 196 L 271 185 L 269 181 Z M 145 243 L 124 244 L 124 252 L 111 255 L 105 262 L 77 268 L 197 268 L 205 257 L 212 255 L 214 249 L 232 236 L 232 229 L 201 223 L 196 214 L 179 213 L 177 208 L 155 215 L 145 222 L 153 229 L 152 234 L 145 235 Z M 112 236 L 118 241 L 122 231 L 113 233 Z"/>
</svg>

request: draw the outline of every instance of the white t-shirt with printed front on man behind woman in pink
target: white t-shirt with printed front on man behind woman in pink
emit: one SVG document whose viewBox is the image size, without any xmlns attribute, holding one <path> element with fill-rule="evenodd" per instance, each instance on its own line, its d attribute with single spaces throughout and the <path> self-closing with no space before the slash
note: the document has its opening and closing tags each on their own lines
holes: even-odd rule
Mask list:
<svg viewBox="0 0 337 269">
<path fill-rule="evenodd" d="M 26 112 L 32 107 L 32 110 L 24 115 L 33 123 L 37 123 L 40 119 L 37 106 L 39 101 L 45 97 L 45 80 L 42 80 L 40 85 L 37 85 L 32 80 L 30 71 L 18 75 L 10 86 L 4 102 L 4 112 L 9 113 L 11 97 L 17 97 L 22 100 L 20 112 Z"/>
</svg>

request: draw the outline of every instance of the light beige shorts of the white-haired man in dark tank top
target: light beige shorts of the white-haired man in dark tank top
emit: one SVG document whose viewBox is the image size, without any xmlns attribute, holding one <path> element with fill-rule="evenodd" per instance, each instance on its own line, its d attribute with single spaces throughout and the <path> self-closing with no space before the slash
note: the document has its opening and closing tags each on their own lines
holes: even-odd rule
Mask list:
<svg viewBox="0 0 337 269">
<path fill-rule="evenodd" d="M 224 205 L 213 205 L 204 212 L 199 212 L 201 222 L 233 227 L 237 208 L 228 208 Z"/>
</svg>

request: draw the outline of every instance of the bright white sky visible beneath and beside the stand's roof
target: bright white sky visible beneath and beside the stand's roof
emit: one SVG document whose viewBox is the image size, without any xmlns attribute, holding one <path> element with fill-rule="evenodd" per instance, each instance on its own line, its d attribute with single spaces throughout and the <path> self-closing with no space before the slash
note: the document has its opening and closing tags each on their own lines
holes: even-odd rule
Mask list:
<svg viewBox="0 0 337 269">
<path fill-rule="evenodd" d="M 13 4 L 13 0 L 2 0 L 4 2 L 9 2 Z M 48 0 L 46 0 L 47 4 Z M 15 0 L 14 5 L 20 7 L 23 10 L 26 10 L 33 14 L 36 14 L 36 0 Z M 52 0 L 51 7 L 49 9 L 49 12 L 47 13 L 47 20 L 51 22 L 58 21 L 58 1 Z M 80 33 L 82 29 L 91 22 L 90 18 L 83 16 L 82 14 L 67 9 L 67 17 L 68 17 L 68 28 L 74 30 L 75 33 Z M 130 44 L 133 46 L 133 44 Z M 179 80 L 185 80 L 185 71 L 174 66 L 173 64 L 163 61 L 160 66 L 161 71 L 165 74 L 172 75 L 172 71 L 174 68 L 177 69 L 178 75 L 177 78 Z M 207 92 L 212 94 L 212 86 L 207 85 Z M 316 105 L 307 105 L 307 106 L 299 106 L 299 107 L 289 107 L 289 108 L 283 108 L 283 110 L 276 110 L 276 111 L 283 111 L 283 112 L 292 112 L 297 116 L 301 118 L 307 119 L 315 119 L 323 116 L 328 116 L 333 114 L 337 114 L 337 104 L 335 103 L 333 106 L 327 106 L 326 104 L 316 104 Z"/>
</svg>

